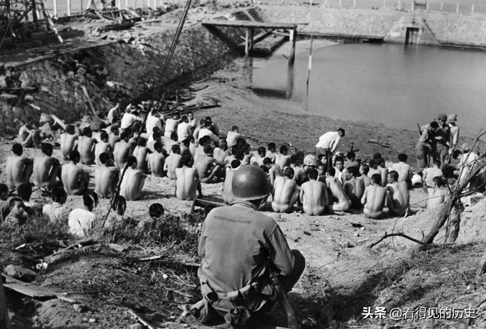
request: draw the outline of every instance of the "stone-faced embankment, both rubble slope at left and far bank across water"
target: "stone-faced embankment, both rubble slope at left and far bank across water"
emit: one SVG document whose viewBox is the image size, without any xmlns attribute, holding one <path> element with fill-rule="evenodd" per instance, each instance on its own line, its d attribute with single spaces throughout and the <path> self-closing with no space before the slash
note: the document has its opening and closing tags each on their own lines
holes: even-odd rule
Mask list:
<svg viewBox="0 0 486 329">
<path fill-rule="evenodd" d="M 218 16 L 309 23 L 299 26 L 301 33 L 384 37 L 401 17 L 415 15 L 427 21 L 441 42 L 486 45 L 485 16 L 310 8 L 302 5 L 259 5 L 250 11 L 251 15 L 241 10 L 236 13 L 220 11 Z M 118 102 L 148 99 L 170 48 L 178 15 L 180 10 L 167 14 L 172 24 L 167 21 L 149 28 L 138 27 L 120 32 L 115 42 L 104 41 L 100 45 L 98 41 L 95 46 L 51 54 L 41 60 L 10 65 L 0 63 L 1 132 L 14 133 L 27 116 L 37 118 L 43 112 L 55 114 L 67 122 L 91 114 L 83 86 L 95 111 L 101 113 Z M 223 32 L 232 40 L 243 40 L 243 29 L 228 28 Z M 96 37 L 103 39 L 106 35 L 97 34 Z M 170 93 L 178 85 L 207 76 L 235 56 L 225 43 L 199 23 L 188 24 L 167 72 L 166 89 L 162 93 Z"/>
</svg>

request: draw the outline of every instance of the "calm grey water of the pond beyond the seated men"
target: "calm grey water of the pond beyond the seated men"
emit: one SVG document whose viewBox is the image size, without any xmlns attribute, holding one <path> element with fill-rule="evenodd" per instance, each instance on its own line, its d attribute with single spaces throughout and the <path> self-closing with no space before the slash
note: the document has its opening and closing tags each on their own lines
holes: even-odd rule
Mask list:
<svg viewBox="0 0 486 329">
<path fill-rule="evenodd" d="M 298 48 L 297 48 L 298 49 Z M 457 114 L 462 132 L 486 128 L 486 53 L 397 44 L 339 44 L 253 59 L 249 87 L 310 114 L 416 129 Z"/>
</svg>

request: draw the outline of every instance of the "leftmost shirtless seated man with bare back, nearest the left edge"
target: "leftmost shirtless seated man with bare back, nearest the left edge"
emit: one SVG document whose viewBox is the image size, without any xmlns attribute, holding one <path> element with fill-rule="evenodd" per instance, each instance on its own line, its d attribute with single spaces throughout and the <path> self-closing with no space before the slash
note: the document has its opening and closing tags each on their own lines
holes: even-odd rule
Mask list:
<svg viewBox="0 0 486 329">
<path fill-rule="evenodd" d="M 5 174 L 7 175 L 7 186 L 17 188 L 18 185 L 29 182 L 34 161 L 22 156 L 23 148 L 19 143 L 12 146 L 12 152 L 14 152 L 14 155 L 7 158 Z"/>
</svg>

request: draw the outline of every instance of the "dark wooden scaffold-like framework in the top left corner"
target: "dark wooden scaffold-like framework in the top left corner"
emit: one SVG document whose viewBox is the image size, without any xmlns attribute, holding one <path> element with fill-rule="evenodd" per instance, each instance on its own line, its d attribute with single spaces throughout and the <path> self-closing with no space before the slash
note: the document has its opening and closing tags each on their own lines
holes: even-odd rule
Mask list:
<svg viewBox="0 0 486 329">
<path fill-rule="evenodd" d="M 63 42 L 44 7 L 44 0 L 0 0 L 0 40 L 26 41 L 30 33 L 43 31 L 52 31 Z"/>
</svg>

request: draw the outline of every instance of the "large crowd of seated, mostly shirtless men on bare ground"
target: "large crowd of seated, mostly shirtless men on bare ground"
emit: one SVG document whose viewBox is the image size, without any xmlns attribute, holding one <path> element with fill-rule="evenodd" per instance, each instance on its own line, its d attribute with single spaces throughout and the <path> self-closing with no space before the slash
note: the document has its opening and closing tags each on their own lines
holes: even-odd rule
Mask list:
<svg viewBox="0 0 486 329">
<path fill-rule="evenodd" d="M 196 192 L 198 197 L 204 197 L 201 183 L 224 181 L 222 198 L 230 204 L 234 201 L 233 175 L 244 165 L 256 165 L 265 172 L 272 191 L 268 204 L 275 212 L 299 209 L 295 206 L 309 215 L 363 209 L 366 217 L 381 218 L 384 207 L 390 215 L 397 216 L 404 215 L 409 207 L 408 189 L 413 173 L 406 164 L 407 155 L 399 154 L 399 162 L 390 168 L 379 153 L 367 163 L 357 162 L 354 152 L 344 157 L 336 151 L 340 138 L 345 136 L 343 129 L 323 134 L 316 145 L 316 155 L 301 151 L 291 155 L 287 145 L 277 152 L 275 143 L 252 152 L 237 126 L 220 139 L 219 128 L 210 117 L 196 125 L 192 114 L 165 117 L 153 110 L 146 120 L 146 132 L 139 135 L 142 120 L 137 108 L 129 105 L 123 115 L 116 106 L 104 121 L 67 125 L 60 135 L 64 158 L 61 165 L 60 159 L 52 157 L 52 144 L 42 141 L 48 136 L 28 118 L 20 128 L 19 143 L 12 147 L 13 155 L 7 159 L 6 184 L 0 184 L 2 200 L 7 199 L 9 189 L 17 189 L 18 197 L 2 207 L 1 218 L 23 223 L 33 213 L 32 176 L 35 187 L 49 191 L 52 197 L 53 203 L 43 207 L 44 214 L 53 221 L 69 217 L 69 223 L 74 223 L 70 224 L 71 231 L 83 235 L 83 228 L 93 225 L 92 210 L 98 197 L 113 195 L 124 168 L 120 197 L 115 202 L 119 216 L 123 215 L 126 200 L 141 197 L 149 174 L 176 180 L 175 196 L 181 200 L 193 199 Z M 40 147 L 42 153 L 29 159 L 22 155 L 23 147 Z M 79 164 L 96 165 L 94 192 L 88 190 L 89 173 Z M 422 172 L 423 184 L 428 187 L 427 207 L 439 205 L 449 194 L 440 167 L 440 161 L 435 160 L 433 167 Z M 85 209 L 70 211 L 63 205 L 67 195 L 83 195 Z M 266 205 L 263 203 L 260 209 Z"/>
</svg>

